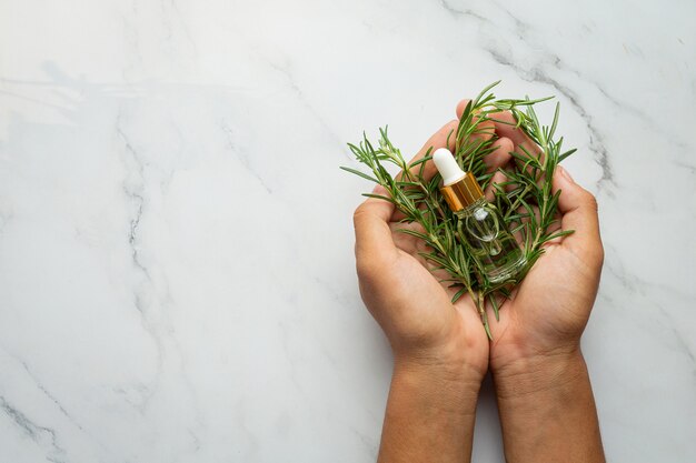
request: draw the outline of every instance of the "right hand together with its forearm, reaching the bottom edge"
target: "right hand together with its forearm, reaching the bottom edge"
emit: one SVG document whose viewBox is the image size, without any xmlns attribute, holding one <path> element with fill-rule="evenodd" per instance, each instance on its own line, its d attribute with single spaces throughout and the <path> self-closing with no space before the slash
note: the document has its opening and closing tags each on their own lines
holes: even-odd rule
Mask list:
<svg viewBox="0 0 696 463">
<path fill-rule="evenodd" d="M 459 104 L 459 113 L 465 105 L 466 101 Z M 498 113 L 496 119 L 514 121 L 510 113 Z M 524 147 L 539 153 L 519 129 L 503 122 L 495 125 L 498 142 L 516 152 Z M 497 162 L 505 163 L 505 152 L 498 150 Z M 575 233 L 549 242 L 501 306 L 500 321 L 489 316 L 490 370 L 505 455 L 516 463 L 600 463 L 605 460 L 597 411 L 579 346 L 604 260 L 597 203 L 560 167 L 553 190 L 561 190 L 558 227 Z"/>
</svg>

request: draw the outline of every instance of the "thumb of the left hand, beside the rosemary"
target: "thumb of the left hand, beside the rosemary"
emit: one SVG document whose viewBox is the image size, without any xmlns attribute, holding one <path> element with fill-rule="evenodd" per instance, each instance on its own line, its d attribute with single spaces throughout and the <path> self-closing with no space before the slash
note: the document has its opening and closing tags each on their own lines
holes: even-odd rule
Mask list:
<svg viewBox="0 0 696 463">
<path fill-rule="evenodd" d="M 375 194 L 388 197 L 389 193 L 378 185 Z M 369 198 L 356 209 L 352 222 L 356 231 L 356 261 L 358 271 L 368 266 L 380 266 L 396 259 L 398 251 L 394 244 L 389 219 L 395 207 L 391 202 Z"/>
</svg>

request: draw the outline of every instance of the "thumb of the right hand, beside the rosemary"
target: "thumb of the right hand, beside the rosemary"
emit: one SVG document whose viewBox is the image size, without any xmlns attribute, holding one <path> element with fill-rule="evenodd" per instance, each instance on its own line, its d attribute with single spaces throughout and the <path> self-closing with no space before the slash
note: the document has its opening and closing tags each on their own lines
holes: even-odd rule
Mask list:
<svg viewBox="0 0 696 463">
<path fill-rule="evenodd" d="M 558 209 L 563 214 L 560 227 L 575 230 L 564 238 L 567 248 L 590 266 L 601 266 L 604 250 L 599 236 L 599 218 L 595 197 L 573 180 L 568 171 L 558 165 L 554 174 L 553 191 L 560 190 Z"/>
</svg>

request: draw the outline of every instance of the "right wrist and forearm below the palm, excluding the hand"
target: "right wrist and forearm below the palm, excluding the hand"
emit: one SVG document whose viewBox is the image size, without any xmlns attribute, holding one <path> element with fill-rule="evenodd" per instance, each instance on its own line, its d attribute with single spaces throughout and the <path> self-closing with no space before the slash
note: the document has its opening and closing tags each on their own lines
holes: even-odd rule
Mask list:
<svg viewBox="0 0 696 463">
<path fill-rule="evenodd" d="M 506 461 L 605 461 L 579 349 L 520 358 L 493 376 Z"/>
</svg>

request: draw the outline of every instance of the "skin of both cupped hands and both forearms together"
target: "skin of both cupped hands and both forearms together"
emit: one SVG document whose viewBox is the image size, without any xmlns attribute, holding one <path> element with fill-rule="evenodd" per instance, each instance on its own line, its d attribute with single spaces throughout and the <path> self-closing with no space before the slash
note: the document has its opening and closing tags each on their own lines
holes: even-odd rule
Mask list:
<svg viewBox="0 0 696 463">
<path fill-rule="evenodd" d="M 509 162 L 508 152 L 520 144 L 535 148 L 510 125 L 487 124 L 499 137 L 487 160 L 490 171 Z M 445 147 L 456 125 L 437 131 L 416 158 Z M 404 224 L 391 203 L 369 199 L 356 210 L 360 293 L 395 359 L 379 462 L 470 461 L 476 401 L 488 369 L 508 461 L 604 461 L 579 349 L 601 268 L 597 208 L 564 170 L 557 173 L 560 227 L 576 232 L 547 246 L 504 304 L 500 321 L 491 323 L 491 344 L 474 304 L 466 298 L 450 302 L 451 290 L 418 254 L 422 243 L 396 231 Z M 425 175 L 432 174 L 428 162 Z"/>
</svg>

